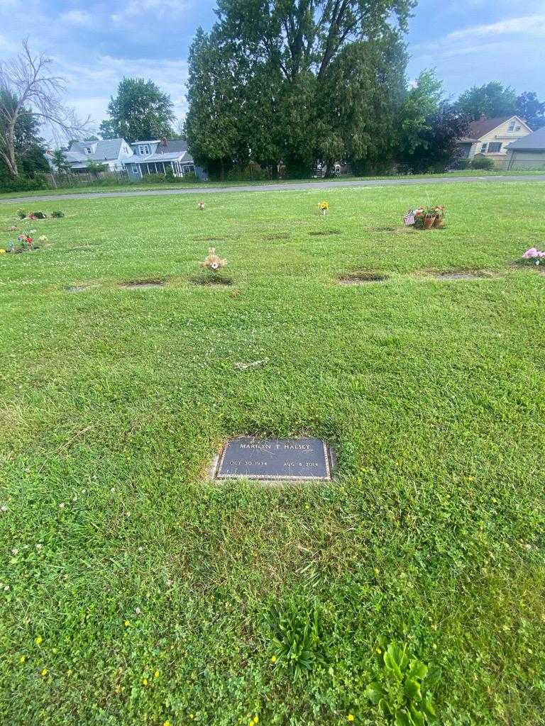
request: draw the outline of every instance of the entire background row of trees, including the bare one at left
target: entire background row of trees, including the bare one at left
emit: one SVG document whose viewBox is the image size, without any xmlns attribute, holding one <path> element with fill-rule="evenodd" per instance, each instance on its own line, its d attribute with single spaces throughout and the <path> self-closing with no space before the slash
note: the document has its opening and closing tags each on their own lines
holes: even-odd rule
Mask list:
<svg viewBox="0 0 545 726">
<path fill-rule="evenodd" d="M 219 0 L 217 23 L 198 28 L 189 53 L 188 113 L 144 78 L 123 78 L 100 123 L 104 139 L 184 138 L 214 177 L 243 168 L 309 176 L 316 163 L 355 174 L 443 171 L 456 141 L 481 116 L 517 114 L 545 126 L 545 103 L 491 81 L 445 99 L 433 70 L 408 83 L 405 32 L 413 0 Z M 65 138 L 89 135 L 62 104 L 51 60 L 23 52 L 0 64 L 0 182 L 49 167 L 44 125 Z M 56 144 L 60 147 L 60 144 Z M 64 147 L 67 148 L 67 147 Z M 62 147 L 57 167 L 68 171 Z"/>
</svg>

